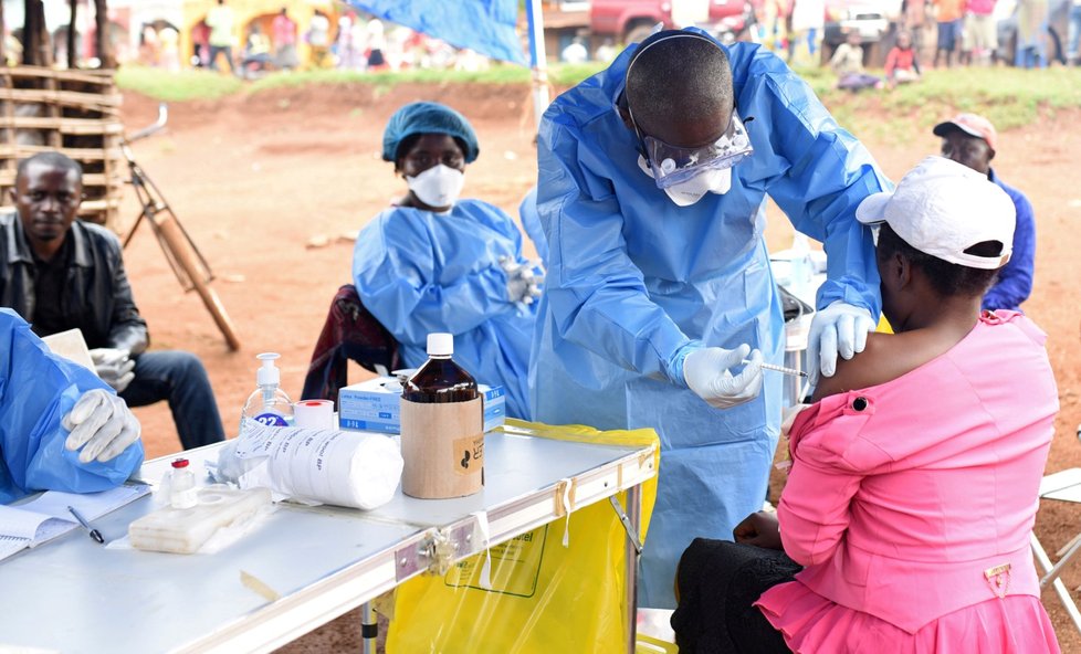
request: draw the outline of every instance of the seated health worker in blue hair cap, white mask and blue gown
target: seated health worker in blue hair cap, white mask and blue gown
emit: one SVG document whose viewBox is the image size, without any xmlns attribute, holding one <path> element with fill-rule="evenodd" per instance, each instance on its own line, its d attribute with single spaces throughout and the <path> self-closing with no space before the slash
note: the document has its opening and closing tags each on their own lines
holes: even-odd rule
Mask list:
<svg viewBox="0 0 1081 654">
<path fill-rule="evenodd" d="M 428 335 L 454 335 L 454 360 L 479 383 L 502 386 L 506 412 L 528 418 L 529 346 L 543 275 L 522 256 L 522 233 L 500 208 L 461 200 L 480 151 L 458 112 L 435 103 L 398 109 L 382 137 L 408 192 L 357 238 L 353 282 L 414 368 Z"/>
</svg>

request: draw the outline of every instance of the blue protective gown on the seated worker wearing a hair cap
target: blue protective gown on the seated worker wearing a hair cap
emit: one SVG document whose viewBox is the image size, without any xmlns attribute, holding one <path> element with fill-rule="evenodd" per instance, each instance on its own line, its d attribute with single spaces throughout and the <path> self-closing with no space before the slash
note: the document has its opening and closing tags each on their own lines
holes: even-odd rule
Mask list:
<svg viewBox="0 0 1081 654">
<path fill-rule="evenodd" d="M 357 238 L 353 283 L 398 339 L 408 367 L 428 360 L 428 334 L 449 331 L 454 361 L 479 383 L 504 388 L 507 415 L 528 419 L 537 305 L 510 300 L 500 256 L 525 262 L 522 233 L 497 207 L 480 200 L 461 200 L 448 213 L 395 207 Z"/>
</svg>

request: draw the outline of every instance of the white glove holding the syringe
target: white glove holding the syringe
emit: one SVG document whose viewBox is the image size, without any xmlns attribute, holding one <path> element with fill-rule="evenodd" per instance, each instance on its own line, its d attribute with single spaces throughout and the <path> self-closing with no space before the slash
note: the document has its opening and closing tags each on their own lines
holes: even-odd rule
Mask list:
<svg viewBox="0 0 1081 654">
<path fill-rule="evenodd" d="M 746 367 L 738 373 L 732 370 Z M 692 391 L 714 409 L 728 409 L 751 401 L 762 392 L 762 352 L 742 345 L 734 350 L 718 347 L 694 350 L 683 360 L 683 379 Z"/>
</svg>

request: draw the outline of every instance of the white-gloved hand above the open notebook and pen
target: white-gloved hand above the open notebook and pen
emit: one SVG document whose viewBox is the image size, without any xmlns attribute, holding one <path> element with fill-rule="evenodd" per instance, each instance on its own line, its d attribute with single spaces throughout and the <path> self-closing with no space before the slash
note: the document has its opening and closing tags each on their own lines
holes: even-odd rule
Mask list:
<svg viewBox="0 0 1081 654">
<path fill-rule="evenodd" d="M 86 391 L 62 421 L 71 434 L 64 446 L 80 450 L 78 461 L 115 458 L 139 440 L 141 428 L 120 398 L 102 389 Z"/>
</svg>

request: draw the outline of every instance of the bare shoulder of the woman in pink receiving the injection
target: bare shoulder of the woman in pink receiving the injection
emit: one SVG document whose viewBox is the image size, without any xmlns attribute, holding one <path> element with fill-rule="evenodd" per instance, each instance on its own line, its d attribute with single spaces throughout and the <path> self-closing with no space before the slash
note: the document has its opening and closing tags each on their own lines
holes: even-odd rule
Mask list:
<svg viewBox="0 0 1081 654">
<path fill-rule="evenodd" d="M 833 377 L 822 377 L 815 389 L 814 401 L 892 381 L 916 368 L 920 362 L 912 356 L 911 334 L 872 333 L 867 347 L 851 359 L 837 359 Z"/>
</svg>

